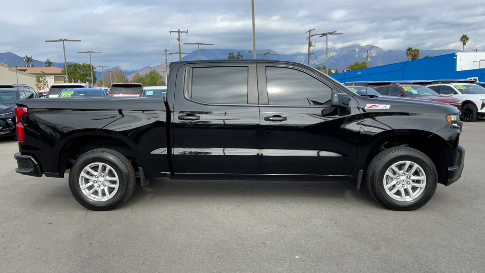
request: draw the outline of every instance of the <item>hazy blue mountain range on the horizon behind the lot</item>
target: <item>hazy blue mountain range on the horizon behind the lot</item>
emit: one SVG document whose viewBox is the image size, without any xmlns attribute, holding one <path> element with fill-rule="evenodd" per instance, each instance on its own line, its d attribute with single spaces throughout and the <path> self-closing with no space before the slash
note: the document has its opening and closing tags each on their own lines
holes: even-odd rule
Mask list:
<svg viewBox="0 0 485 273">
<path fill-rule="evenodd" d="M 393 50 L 383 50 L 379 47 L 373 45 L 351 45 L 342 48 L 328 48 L 328 67 L 329 68 L 338 68 L 341 72 L 343 69 L 347 68 L 349 65 L 355 62 L 365 62 L 366 60 L 366 51 L 369 51 L 369 67 L 376 67 L 382 65 L 388 65 L 393 63 L 404 62 L 407 60 L 407 56 L 405 51 L 393 51 Z M 444 55 L 449 53 L 455 53 L 459 50 L 420 50 L 420 58 L 430 55 L 430 56 L 438 56 Z M 229 52 L 233 52 L 237 54 L 237 52 L 241 52 L 244 59 L 249 59 L 249 52 L 247 50 L 242 49 L 201 49 L 200 50 L 200 59 L 201 60 L 217 60 L 217 59 L 227 59 L 227 55 Z M 271 60 L 284 60 L 284 61 L 292 61 L 297 63 L 307 63 L 307 53 L 294 53 L 294 54 L 278 54 L 274 50 L 265 49 L 265 50 L 258 50 L 258 52 L 266 53 L 270 52 L 270 54 L 263 57 L 262 55 L 257 56 L 258 59 L 267 58 Z M 171 61 L 177 61 L 178 56 L 173 54 Z M 187 54 L 182 57 L 182 61 L 192 61 L 197 60 L 197 51 L 192 51 L 190 54 Z M 310 66 L 323 66 L 326 62 L 326 52 L 325 50 L 315 50 L 312 51 L 310 55 Z M 23 57 L 20 57 L 12 52 L 5 52 L 0 53 L 0 63 L 4 63 L 9 67 L 19 66 L 23 67 L 25 65 Z M 44 61 L 33 60 L 31 63 L 34 67 L 44 67 Z M 63 68 L 64 63 L 52 63 L 53 67 Z M 109 70 L 109 69 L 107 69 Z M 132 75 L 136 72 L 139 72 L 141 76 L 145 76 L 146 73 L 150 72 L 151 70 L 156 70 L 157 72 L 164 73 L 165 72 L 165 64 L 162 63 L 161 65 L 150 67 L 146 66 L 144 68 L 138 70 L 123 70 L 125 75 L 127 75 L 128 79 L 131 79 Z M 101 71 L 96 71 L 96 76 L 98 79 L 101 78 Z"/>
</svg>

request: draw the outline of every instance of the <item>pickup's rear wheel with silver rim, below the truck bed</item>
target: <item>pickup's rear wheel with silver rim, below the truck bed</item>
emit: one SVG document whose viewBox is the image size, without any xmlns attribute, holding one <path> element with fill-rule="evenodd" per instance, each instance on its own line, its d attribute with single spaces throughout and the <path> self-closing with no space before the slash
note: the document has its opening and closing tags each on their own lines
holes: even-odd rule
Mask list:
<svg viewBox="0 0 485 273">
<path fill-rule="evenodd" d="M 91 210 L 112 210 L 127 202 L 135 181 L 135 171 L 128 158 L 111 149 L 82 154 L 69 172 L 72 195 Z"/>
</svg>

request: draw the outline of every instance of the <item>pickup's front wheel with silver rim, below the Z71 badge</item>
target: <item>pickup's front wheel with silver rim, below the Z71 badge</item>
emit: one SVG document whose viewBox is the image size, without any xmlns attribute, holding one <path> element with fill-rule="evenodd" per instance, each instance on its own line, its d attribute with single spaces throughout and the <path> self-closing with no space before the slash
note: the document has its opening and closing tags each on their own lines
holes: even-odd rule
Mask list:
<svg viewBox="0 0 485 273">
<path fill-rule="evenodd" d="M 379 204 L 392 210 L 414 210 L 425 205 L 433 197 L 437 182 L 433 161 L 420 151 L 404 146 L 380 152 L 367 170 L 367 189 Z"/>
</svg>

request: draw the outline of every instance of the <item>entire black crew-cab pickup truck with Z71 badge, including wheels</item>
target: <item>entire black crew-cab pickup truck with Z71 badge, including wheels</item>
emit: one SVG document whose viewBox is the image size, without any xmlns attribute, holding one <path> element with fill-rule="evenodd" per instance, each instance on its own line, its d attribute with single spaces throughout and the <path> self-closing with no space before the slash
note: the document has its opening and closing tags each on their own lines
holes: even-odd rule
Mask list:
<svg viewBox="0 0 485 273">
<path fill-rule="evenodd" d="M 395 210 L 458 180 L 460 112 L 440 102 L 361 96 L 302 64 L 177 62 L 167 97 L 17 102 L 16 171 L 64 177 L 109 210 L 136 176 L 348 181 Z"/>
</svg>

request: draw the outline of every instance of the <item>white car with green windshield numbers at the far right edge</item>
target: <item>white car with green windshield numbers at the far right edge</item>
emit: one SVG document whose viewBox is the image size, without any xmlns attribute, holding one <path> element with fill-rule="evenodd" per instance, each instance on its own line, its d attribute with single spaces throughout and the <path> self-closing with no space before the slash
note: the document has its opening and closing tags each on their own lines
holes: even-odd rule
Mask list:
<svg viewBox="0 0 485 273">
<path fill-rule="evenodd" d="M 461 118 L 464 121 L 476 121 L 485 117 L 485 88 L 467 83 L 448 83 L 428 85 L 440 95 L 448 95 L 460 101 Z"/>
</svg>

